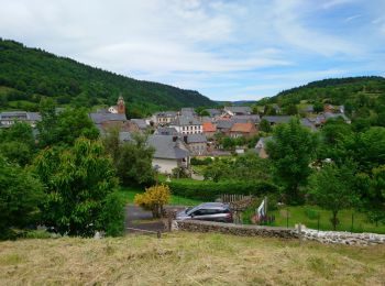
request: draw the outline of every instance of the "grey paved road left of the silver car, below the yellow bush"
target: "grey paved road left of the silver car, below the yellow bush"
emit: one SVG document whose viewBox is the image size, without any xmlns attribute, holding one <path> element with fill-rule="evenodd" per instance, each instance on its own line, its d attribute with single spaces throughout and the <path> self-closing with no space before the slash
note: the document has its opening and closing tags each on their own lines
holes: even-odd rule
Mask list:
<svg viewBox="0 0 385 286">
<path fill-rule="evenodd" d="M 173 210 L 182 210 L 185 207 L 183 206 L 166 207 L 166 209 L 173 209 Z M 156 231 L 156 232 L 164 231 L 164 223 L 161 219 L 153 220 L 151 211 L 145 211 L 142 208 L 134 205 L 128 205 L 125 207 L 125 227 L 141 229 L 141 230 Z M 125 233 L 133 234 L 133 233 L 145 233 L 145 232 L 127 229 Z"/>
</svg>

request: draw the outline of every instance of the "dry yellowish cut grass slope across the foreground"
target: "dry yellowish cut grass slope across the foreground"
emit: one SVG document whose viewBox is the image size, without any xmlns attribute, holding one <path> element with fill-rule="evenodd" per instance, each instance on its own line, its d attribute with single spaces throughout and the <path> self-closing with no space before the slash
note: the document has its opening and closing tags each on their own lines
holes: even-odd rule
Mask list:
<svg viewBox="0 0 385 286">
<path fill-rule="evenodd" d="M 222 234 L 0 243 L 0 285 L 385 285 L 385 246 Z"/>
</svg>

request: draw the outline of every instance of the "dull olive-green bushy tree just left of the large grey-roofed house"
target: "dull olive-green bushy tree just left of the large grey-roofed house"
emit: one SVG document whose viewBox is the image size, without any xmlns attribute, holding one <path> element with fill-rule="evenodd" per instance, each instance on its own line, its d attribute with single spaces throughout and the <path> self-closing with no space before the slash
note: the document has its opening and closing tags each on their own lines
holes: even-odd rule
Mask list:
<svg viewBox="0 0 385 286">
<path fill-rule="evenodd" d="M 121 143 L 118 129 L 111 129 L 103 139 L 106 152 L 112 157 L 117 174 L 124 186 L 154 183 L 154 150 L 146 146 L 145 140 L 144 135 L 134 134 L 133 142 Z"/>
</svg>

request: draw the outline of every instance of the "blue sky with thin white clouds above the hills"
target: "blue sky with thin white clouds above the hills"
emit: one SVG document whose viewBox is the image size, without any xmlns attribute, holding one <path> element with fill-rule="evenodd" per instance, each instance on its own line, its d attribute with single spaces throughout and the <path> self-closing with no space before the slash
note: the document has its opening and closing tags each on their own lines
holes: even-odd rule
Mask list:
<svg viewBox="0 0 385 286">
<path fill-rule="evenodd" d="M 0 0 L 0 7 L 2 38 L 213 100 L 385 76 L 385 0 Z"/>
</svg>

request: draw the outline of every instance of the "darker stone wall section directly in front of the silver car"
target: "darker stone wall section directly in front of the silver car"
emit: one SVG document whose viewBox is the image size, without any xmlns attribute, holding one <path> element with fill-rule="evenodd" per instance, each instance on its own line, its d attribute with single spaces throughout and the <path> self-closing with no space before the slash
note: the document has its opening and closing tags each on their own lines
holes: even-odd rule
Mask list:
<svg viewBox="0 0 385 286">
<path fill-rule="evenodd" d="M 220 232 L 241 237 L 264 237 L 280 239 L 298 239 L 299 234 L 295 229 L 273 228 L 249 224 L 234 224 L 223 222 L 185 220 L 177 221 L 177 229 L 193 232 Z"/>
</svg>

